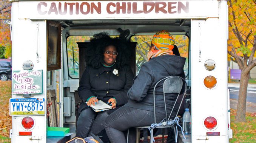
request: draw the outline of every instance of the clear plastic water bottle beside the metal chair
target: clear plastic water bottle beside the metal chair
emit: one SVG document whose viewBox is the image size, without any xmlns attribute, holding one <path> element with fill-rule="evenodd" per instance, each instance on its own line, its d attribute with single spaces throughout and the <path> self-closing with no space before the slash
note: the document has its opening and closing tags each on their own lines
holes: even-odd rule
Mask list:
<svg viewBox="0 0 256 143">
<path fill-rule="evenodd" d="M 188 111 L 188 108 L 185 109 L 185 113 L 183 114 L 182 121 L 182 130 L 185 134 L 191 133 L 191 115 Z"/>
</svg>

